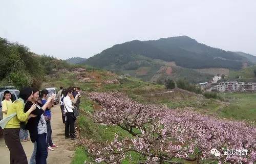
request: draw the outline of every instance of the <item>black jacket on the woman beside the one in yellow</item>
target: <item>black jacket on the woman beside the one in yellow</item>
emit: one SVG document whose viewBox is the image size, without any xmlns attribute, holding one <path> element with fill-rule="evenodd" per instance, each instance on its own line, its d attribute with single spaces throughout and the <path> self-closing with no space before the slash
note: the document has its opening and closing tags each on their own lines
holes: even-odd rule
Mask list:
<svg viewBox="0 0 256 164">
<path fill-rule="evenodd" d="M 42 107 L 42 104 L 38 103 L 37 104 Z M 27 112 L 30 107 L 33 105 L 32 102 L 28 101 L 26 104 L 25 104 L 25 108 L 24 108 L 24 112 Z M 41 117 L 41 114 L 43 114 L 45 111 L 42 110 L 42 109 L 39 109 L 36 107 L 36 109 L 34 111 L 31 112 L 31 114 L 35 114 L 37 115 L 35 118 L 30 118 L 28 123 L 26 124 L 26 129 L 29 130 L 29 135 L 30 135 L 30 139 L 31 139 L 31 142 L 34 143 L 35 140 L 37 139 L 37 126 L 38 126 L 38 123 L 40 121 L 40 117 Z"/>
</svg>

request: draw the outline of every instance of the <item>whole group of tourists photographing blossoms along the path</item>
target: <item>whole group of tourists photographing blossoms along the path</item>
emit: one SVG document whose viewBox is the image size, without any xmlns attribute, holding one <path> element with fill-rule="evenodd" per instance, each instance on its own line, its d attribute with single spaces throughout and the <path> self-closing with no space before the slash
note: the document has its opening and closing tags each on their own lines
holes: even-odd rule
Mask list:
<svg viewBox="0 0 256 164">
<path fill-rule="evenodd" d="M 47 163 L 48 151 L 53 151 L 58 147 L 52 141 L 51 108 L 54 99 L 55 95 L 49 95 L 46 89 L 39 91 L 25 87 L 20 90 L 19 99 L 12 102 L 11 92 L 4 91 L 3 120 L 0 121 L 0 126 L 4 129 L 6 147 L 10 151 L 10 164 L 28 164 L 20 142 L 31 140 L 34 144 L 30 164 Z M 57 99 L 60 102 L 62 122 L 65 124 L 65 138 L 75 139 L 75 120 L 79 115 L 80 88 L 63 89 L 60 87 Z"/>
</svg>

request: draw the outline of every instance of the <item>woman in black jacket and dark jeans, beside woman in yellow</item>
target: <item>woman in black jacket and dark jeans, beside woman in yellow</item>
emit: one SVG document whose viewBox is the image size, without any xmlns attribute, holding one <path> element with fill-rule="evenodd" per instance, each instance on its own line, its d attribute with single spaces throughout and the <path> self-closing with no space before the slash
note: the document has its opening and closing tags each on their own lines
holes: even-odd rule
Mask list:
<svg viewBox="0 0 256 164">
<path fill-rule="evenodd" d="M 48 98 L 45 105 L 38 102 L 39 90 L 33 89 L 33 98 L 31 101 L 27 102 L 24 111 L 29 110 L 33 104 L 37 104 L 36 109 L 32 114 L 37 115 L 35 118 L 31 118 L 26 129 L 29 130 L 31 142 L 34 143 L 34 151 L 30 159 L 30 164 L 46 164 L 46 158 L 48 156 L 46 136 L 47 136 L 47 126 L 43 113 L 48 106 L 52 106 L 51 100 L 53 97 Z"/>
</svg>

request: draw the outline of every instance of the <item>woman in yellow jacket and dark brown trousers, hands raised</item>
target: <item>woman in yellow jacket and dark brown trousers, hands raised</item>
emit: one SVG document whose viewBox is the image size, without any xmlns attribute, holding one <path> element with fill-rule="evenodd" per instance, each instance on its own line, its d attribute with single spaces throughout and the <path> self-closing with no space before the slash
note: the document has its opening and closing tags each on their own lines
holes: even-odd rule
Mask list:
<svg viewBox="0 0 256 164">
<path fill-rule="evenodd" d="M 22 144 L 19 140 L 20 122 L 26 122 L 32 116 L 30 113 L 35 110 L 36 104 L 24 113 L 26 101 L 31 101 L 33 97 L 32 88 L 23 88 L 20 90 L 19 99 L 14 101 L 8 108 L 7 116 L 17 113 L 6 125 L 4 129 L 5 143 L 10 151 L 10 164 L 28 164 L 28 160 Z"/>
</svg>

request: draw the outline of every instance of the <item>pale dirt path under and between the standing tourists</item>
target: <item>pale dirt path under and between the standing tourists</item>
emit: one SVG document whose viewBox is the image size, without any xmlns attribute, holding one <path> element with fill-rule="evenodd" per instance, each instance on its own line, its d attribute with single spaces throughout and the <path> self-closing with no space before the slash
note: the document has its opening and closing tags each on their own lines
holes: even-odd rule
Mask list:
<svg viewBox="0 0 256 164">
<path fill-rule="evenodd" d="M 65 139 L 64 136 L 64 124 L 61 119 L 61 112 L 59 104 L 52 108 L 52 140 L 58 145 L 58 148 L 54 151 L 48 152 L 47 163 L 48 164 L 70 164 L 74 154 L 74 141 Z M 26 152 L 28 161 L 33 152 L 33 144 L 31 141 L 22 143 Z M 0 137 L 0 163 L 8 164 L 9 162 L 9 150 L 5 147 L 5 140 L 3 136 Z"/>
</svg>

